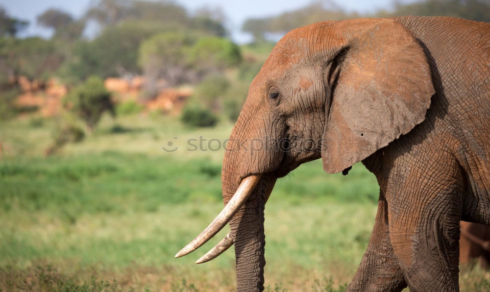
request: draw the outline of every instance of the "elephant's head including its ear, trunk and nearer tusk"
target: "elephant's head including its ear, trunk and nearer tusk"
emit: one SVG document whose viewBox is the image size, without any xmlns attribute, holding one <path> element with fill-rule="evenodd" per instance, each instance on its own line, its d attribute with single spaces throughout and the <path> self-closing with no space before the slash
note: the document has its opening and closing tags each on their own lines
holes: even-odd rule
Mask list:
<svg viewBox="0 0 490 292">
<path fill-rule="evenodd" d="M 224 242 L 235 243 L 238 289 L 262 290 L 263 208 L 275 179 L 320 157 L 329 173 L 367 158 L 422 122 L 434 92 L 422 47 L 394 20 L 321 22 L 289 32 L 252 81 L 231 133 L 225 208 L 177 256 L 229 222 Z"/>
</svg>

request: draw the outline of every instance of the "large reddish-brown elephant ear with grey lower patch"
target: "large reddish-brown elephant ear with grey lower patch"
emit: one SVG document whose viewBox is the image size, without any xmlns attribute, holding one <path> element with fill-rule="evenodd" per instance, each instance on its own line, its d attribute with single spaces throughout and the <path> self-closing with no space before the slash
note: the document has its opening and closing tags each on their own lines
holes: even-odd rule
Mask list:
<svg viewBox="0 0 490 292">
<path fill-rule="evenodd" d="M 338 55 L 326 78 L 332 98 L 321 151 L 329 173 L 408 133 L 424 120 L 435 93 L 424 51 L 402 24 L 361 19 L 332 29 L 340 38 L 329 48 Z"/>
</svg>

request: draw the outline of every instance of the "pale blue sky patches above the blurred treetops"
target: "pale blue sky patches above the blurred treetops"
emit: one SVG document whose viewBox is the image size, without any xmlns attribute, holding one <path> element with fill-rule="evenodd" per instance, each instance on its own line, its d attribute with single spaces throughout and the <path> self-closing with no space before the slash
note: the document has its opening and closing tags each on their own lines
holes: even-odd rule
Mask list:
<svg viewBox="0 0 490 292">
<path fill-rule="evenodd" d="M 29 27 L 23 36 L 41 35 L 49 37 L 50 30 L 36 25 L 36 17 L 49 8 L 58 8 L 80 17 L 94 0 L 0 0 L 9 15 L 28 20 Z M 333 0 L 347 11 L 372 12 L 377 8 L 389 8 L 393 0 Z M 413 0 L 405 0 L 413 1 Z M 240 28 L 247 18 L 278 15 L 285 11 L 303 7 L 311 0 L 176 0 L 189 11 L 202 7 L 220 7 L 228 18 L 228 28 L 234 41 L 246 43 L 251 36 Z"/>
</svg>

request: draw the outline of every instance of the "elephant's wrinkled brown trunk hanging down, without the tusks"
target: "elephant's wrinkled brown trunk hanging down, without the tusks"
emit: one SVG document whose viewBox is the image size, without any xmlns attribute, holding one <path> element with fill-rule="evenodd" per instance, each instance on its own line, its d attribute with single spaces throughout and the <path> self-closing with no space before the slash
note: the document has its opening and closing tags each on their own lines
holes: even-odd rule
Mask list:
<svg viewBox="0 0 490 292">
<path fill-rule="evenodd" d="M 226 146 L 221 173 L 223 201 L 226 204 L 240 181 L 249 175 L 262 174 L 254 192 L 230 220 L 231 238 L 235 244 L 238 291 L 264 290 L 264 205 L 272 191 L 283 152 L 268 143 L 279 141 L 282 130 L 268 128 L 252 121 L 267 121 L 269 116 L 245 102 Z M 267 124 L 267 123 L 266 123 Z M 229 241 L 227 241 L 229 246 Z M 217 248 L 219 255 L 224 249 Z"/>
</svg>

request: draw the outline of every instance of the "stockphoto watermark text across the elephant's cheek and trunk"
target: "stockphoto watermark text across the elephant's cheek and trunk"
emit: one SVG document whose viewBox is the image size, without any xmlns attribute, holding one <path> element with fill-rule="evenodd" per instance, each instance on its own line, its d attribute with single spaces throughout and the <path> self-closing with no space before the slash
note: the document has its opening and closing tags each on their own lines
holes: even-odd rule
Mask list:
<svg viewBox="0 0 490 292">
<path fill-rule="evenodd" d="M 224 139 L 220 140 L 218 138 L 206 139 L 202 136 L 197 138 L 190 138 L 185 140 L 184 146 L 182 143 L 178 143 L 179 137 L 173 137 L 172 140 L 169 140 L 165 146 L 162 146 L 162 149 L 165 152 L 173 153 L 178 150 L 183 150 L 187 152 L 215 152 L 221 151 L 224 149 L 225 151 L 245 151 L 250 152 L 252 155 L 254 152 L 262 152 L 262 151 L 284 151 L 284 152 L 314 152 L 320 151 L 322 145 L 325 145 L 325 139 L 272 139 L 272 138 L 263 138 L 263 139 Z"/>
</svg>

